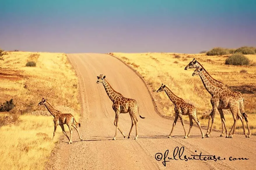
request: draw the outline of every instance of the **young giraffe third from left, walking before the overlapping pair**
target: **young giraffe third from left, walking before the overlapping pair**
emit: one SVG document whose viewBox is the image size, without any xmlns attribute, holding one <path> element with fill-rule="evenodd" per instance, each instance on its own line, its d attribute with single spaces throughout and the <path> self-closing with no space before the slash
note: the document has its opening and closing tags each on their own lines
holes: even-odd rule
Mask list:
<svg viewBox="0 0 256 170">
<path fill-rule="evenodd" d="M 201 134 L 202 134 L 202 138 L 204 138 L 204 133 L 202 131 L 202 128 L 200 126 L 200 122 L 197 118 L 197 109 L 194 105 L 190 104 L 190 103 L 186 103 L 183 99 L 179 98 L 178 96 L 176 96 L 175 94 L 173 94 L 173 92 L 166 87 L 165 85 L 161 85 L 161 87 L 159 87 L 159 89 L 157 90 L 158 92 L 162 92 L 165 91 L 165 93 L 167 94 L 167 96 L 169 97 L 169 99 L 171 100 L 171 102 L 174 104 L 174 111 L 175 111 L 175 118 L 174 118 L 174 122 L 172 125 L 172 129 L 171 129 L 171 133 L 168 136 L 168 138 L 170 138 L 172 136 L 172 132 L 173 129 L 176 125 L 176 122 L 178 120 L 178 117 L 180 118 L 181 124 L 184 128 L 185 131 L 185 137 L 187 138 L 190 136 L 190 130 L 192 129 L 193 126 L 193 120 L 197 123 L 197 126 L 199 127 Z M 182 115 L 188 115 L 189 117 L 189 121 L 190 121 L 190 128 L 188 130 L 188 134 L 186 133 L 186 129 L 184 126 L 184 121 L 183 121 L 183 116 Z"/>
</svg>

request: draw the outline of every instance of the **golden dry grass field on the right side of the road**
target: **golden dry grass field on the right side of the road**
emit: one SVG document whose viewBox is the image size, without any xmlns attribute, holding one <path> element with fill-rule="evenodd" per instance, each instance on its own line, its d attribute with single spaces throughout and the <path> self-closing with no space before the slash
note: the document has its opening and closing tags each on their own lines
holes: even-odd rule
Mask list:
<svg viewBox="0 0 256 170">
<path fill-rule="evenodd" d="M 204 88 L 199 76 L 192 76 L 194 69 L 184 70 L 185 66 L 193 58 L 196 58 L 213 78 L 222 81 L 232 90 L 243 93 L 245 110 L 249 115 L 251 129 L 253 133 L 256 133 L 256 67 L 254 65 L 225 65 L 225 60 L 229 55 L 206 56 L 206 54 L 174 53 L 113 53 L 113 55 L 126 62 L 143 76 L 157 104 L 157 108 L 162 114 L 167 116 L 174 115 L 174 106 L 164 92 L 156 93 L 156 90 L 162 83 L 169 87 L 177 96 L 192 101 L 197 106 L 198 114 L 212 109 L 210 103 L 211 95 Z M 182 60 L 179 59 L 177 62 L 177 58 L 173 57 L 175 55 L 179 55 Z M 150 56 L 157 59 L 158 62 L 153 62 Z M 255 55 L 246 56 L 252 63 L 255 62 Z M 185 58 L 187 60 L 183 60 Z M 135 63 L 136 67 L 130 63 Z M 240 74 L 242 69 L 246 69 L 247 74 Z M 234 122 L 232 115 L 226 114 L 225 118 L 230 129 Z M 188 118 L 186 119 L 188 120 Z M 201 124 L 207 126 L 207 121 L 208 119 L 203 119 Z M 221 129 L 219 115 L 216 116 L 215 122 L 215 128 Z M 241 126 L 242 124 L 239 122 L 237 131 L 243 132 Z"/>
</svg>

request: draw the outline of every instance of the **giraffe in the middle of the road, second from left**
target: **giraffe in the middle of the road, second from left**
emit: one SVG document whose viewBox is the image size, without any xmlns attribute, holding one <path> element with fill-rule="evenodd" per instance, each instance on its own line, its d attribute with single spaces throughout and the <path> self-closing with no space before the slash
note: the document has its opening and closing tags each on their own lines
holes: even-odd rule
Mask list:
<svg viewBox="0 0 256 170">
<path fill-rule="evenodd" d="M 134 99 L 129 99 L 129 98 L 125 98 L 122 94 L 116 92 L 111 85 L 107 82 L 107 80 L 105 79 L 106 76 L 103 76 L 102 74 L 97 76 L 97 84 L 102 83 L 109 99 L 113 102 L 112 108 L 115 111 L 115 121 L 114 121 L 114 125 L 115 125 L 115 137 L 113 138 L 113 140 L 116 140 L 116 136 L 117 136 L 117 129 L 122 133 L 122 135 L 125 136 L 125 133 L 122 132 L 122 130 L 118 127 L 118 119 L 119 119 L 119 114 L 120 113 L 127 113 L 129 112 L 130 117 L 131 117 L 131 129 L 128 135 L 128 139 L 130 138 L 131 135 L 131 130 L 135 124 L 135 128 L 136 128 L 136 137 L 134 139 L 138 138 L 138 119 L 136 117 L 136 112 L 138 110 L 139 113 L 139 105 L 137 103 L 136 100 Z M 140 118 L 145 119 L 145 117 L 142 117 L 139 114 Z"/>
</svg>

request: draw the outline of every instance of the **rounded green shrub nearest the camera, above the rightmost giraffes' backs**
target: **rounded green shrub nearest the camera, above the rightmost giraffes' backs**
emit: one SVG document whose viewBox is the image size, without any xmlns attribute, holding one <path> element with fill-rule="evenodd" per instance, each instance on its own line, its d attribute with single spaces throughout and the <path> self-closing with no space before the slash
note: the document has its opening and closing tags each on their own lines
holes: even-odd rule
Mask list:
<svg viewBox="0 0 256 170">
<path fill-rule="evenodd" d="M 248 65 L 249 63 L 250 60 L 241 53 L 232 54 L 225 61 L 228 65 Z"/>
</svg>

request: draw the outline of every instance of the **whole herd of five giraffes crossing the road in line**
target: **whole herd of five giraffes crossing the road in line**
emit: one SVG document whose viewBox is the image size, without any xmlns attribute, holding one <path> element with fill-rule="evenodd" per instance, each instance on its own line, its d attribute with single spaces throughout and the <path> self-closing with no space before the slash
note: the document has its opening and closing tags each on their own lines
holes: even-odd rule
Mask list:
<svg viewBox="0 0 256 170">
<path fill-rule="evenodd" d="M 192 69 L 192 68 L 195 69 L 192 76 L 196 76 L 196 75 L 200 76 L 204 87 L 212 96 L 211 105 L 213 109 L 208 117 L 209 119 L 208 127 L 207 127 L 207 132 L 205 136 L 206 137 L 211 136 L 211 132 L 213 130 L 213 124 L 215 121 L 215 114 L 218 111 L 220 113 L 220 119 L 222 121 L 222 133 L 220 136 L 223 136 L 224 133 L 226 133 L 226 138 L 228 137 L 233 138 L 236 131 L 236 123 L 240 119 L 243 125 L 244 135 L 246 136 L 246 138 L 249 138 L 251 135 L 251 131 L 250 131 L 250 126 L 248 122 L 248 116 L 244 110 L 243 95 L 240 92 L 236 92 L 229 89 L 226 85 L 224 85 L 220 81 L 215 80 L 213 77 L 211 77 L 211 75 L 208 74 L 206 69 L 199 62 L 197 62 L 195 58 L 191 62 L 189 62 L 189 64 L 185 67 L 185 70 Z M 131 129 L 127 138 L 130 138 L 132 128 L 135 125 L 136 136 L 134 139 L 137 139 L 138 138 L 138 119 L 137 119 L 136 113 L 138 111 L 138 114 L 139 114 L 138 102 L 134 99 L 126 98 L 122 94 L 116 92 L 105 78 L 106 76 L 103 76 L 102 74 L 100 74 L 99 76 L 97 76 L 96 83 L 103 84 L 109 99 L 113 102 L 112 108 L 115 112 L 114 126 L 116 127 L 115 136 L 113 140 L 116 140 L 118 130 L 120 131 L 120 133 L 123 135 L 124 138 L 126 137 L 125 133 L 118 127 L 118 125 L 119 125 L 120 113 L 128 113 L 128 112 L 131 117 Z M 171 90 L 168 87 L 166 87 L 166 85 L 162 84 L 157 90 L 157 92 L 161 92 L 161 91 L 166 92 L 167 96 L 175 106 L 174 107 L 175 118 L 174 118 L 173 126 L 171 129 L 171 133 L 169 134 L 168 138 L 172 137 L 173 129 L 176 125 L 178 118 L 180 118 L 181 124 L 185 131 L 184 138 L 187 138 L 190 136 L 190 131 L 193 126 L 193 120 L 196 122 L 197 126 L 199 127 L 202 138 L 204 138 L 204 133 L 201 129 L 199 119 L 197 118 L 196 107 L 193 104 L 187 103 L 182 98 L 173 94 L 173 92 L 171 92 Z M 72 114 L 62 114 L 60 111 L 55 110 L 44 98 L 40 103 L 38 103 L 38 105 L 45 105 L 47 110 L 54 117 L 53 121 L 55 126 L 54 126 L 53 138 L 55 136 L 57 126 L 60 125 L 64 135 L 69 139 L 69 144 L 72 143 L 72 131 L 73 131 L 72 127 L 76 129 L 80 140 L 83 141 L 78 130 L 78 127 L 80 127 L 80 123 L 76 122 Z M 234 118 L 234 124 L 229 132 L 227 130 L 226 121 L 225 121 L 225 117 L 222 109 L 230 109 L 232 116 Z M 183 115 L 188 115 L 190 120 L 190 128 L 188 133 L 186 132 L 186 129 L 185 129 Z M 140 114 L 139 114 L 139 117 L 142 119 L 145 119 L 145 117 L 142 117 Z M 248 128 L 248 134 L 246 133 L 244 120 L 246 121 L 246 125 Z M 65 132 L 64 124 L 66 124 L 69 128 L 70 137 L 68 137 L 68 135 Z M 224 129 L 225 129 L 225 132 L 224 132 Z"/>
</svg>

